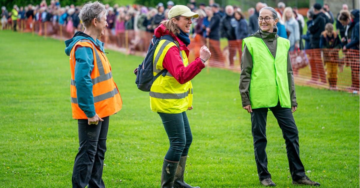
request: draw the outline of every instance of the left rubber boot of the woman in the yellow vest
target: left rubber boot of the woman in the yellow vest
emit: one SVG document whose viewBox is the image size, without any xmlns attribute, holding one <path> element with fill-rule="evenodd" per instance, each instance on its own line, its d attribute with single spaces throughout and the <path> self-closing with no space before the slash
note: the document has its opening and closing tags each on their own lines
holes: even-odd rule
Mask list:
<svg viewBox="0 0 360 188">
<path fill-rule="evenodd" d="M 161 171 L 161 188 L 173 188 L 178 164 L 179 162 L 170 162 L 164 159 Z"/>
</svg>

